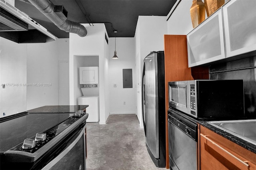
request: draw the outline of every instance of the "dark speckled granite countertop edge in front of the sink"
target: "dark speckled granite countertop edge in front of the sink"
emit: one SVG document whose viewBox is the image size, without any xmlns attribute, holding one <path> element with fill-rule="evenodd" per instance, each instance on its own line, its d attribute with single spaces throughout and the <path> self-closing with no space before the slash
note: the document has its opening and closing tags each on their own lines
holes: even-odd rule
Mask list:
<svg viewBox="0 0 256 170">
<path fill-rule="evenodd" d="M 224 138 L 238 144 L 239 146 L 242 146 L 243 148 L 246 148 L 247 150 L 250 150 L 251 152 L 256 154 L 256 145 L 252 144 L 250 142 L 247 142 L 246 140 L 243 140 L 242 138 L 239 138 L 237 136 L 234 136 L 233 134 L 230 134 L 220 128 L 214 127 L 212 125 L 210 125 L 209 123 L 207 123 L 208 121 L 201 121 L 201 120 L 197 120 L 194 119 L 188 115 L 182 114 L 182 113 L 177 113 L 178 115 L 181 115 L 182 117 L 187 118 L 188 120 L 192 121 L 192 122 L 196 122 L 200 125 L 202 125 L 203 127 L 208 128 L 209 130 L 212 130 L 213 132 L 219 134 L 220 136 L 223 136 Z"/>
</svg>

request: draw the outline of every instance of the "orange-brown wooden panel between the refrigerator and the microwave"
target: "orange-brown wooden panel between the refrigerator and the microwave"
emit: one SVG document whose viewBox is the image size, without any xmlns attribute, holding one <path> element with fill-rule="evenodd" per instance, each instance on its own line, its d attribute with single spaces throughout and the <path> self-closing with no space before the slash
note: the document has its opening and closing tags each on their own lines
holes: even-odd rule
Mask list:
<svg viewBox="0 0 256 170">
<path fill-rule="evenodd" d="M 188 68 L 186 35 L 164 35 L 164 71 L 166 105 L 166 168 L 169 169 L 168 146 L 168 82 L 209 79 L 208 67 Z"/>
</svg>

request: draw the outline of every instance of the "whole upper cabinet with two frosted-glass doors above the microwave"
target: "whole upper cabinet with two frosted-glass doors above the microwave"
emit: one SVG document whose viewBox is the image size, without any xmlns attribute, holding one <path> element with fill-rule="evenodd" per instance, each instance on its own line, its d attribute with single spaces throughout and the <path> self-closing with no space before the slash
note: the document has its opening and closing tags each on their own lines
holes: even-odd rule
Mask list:
<svg viewBox="0 0 256 170">
<path fill-rule="evenodd" d="M 256 51 L 256 0 L 228 1 L 188 33 L 187 42 L 188 67 L 250 57 Z"/>
</svg>

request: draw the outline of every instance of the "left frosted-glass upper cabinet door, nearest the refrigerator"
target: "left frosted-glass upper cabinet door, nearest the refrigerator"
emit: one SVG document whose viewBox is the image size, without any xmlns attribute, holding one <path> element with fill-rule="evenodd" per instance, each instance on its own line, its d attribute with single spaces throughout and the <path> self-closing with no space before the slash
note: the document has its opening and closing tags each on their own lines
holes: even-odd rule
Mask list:
<svg viewBox="0 0 256 170">
<path fill-rule="evenodd" d="M 222 9 L 187 35 L 188 67 L 225 58 Z"/>
</svg>

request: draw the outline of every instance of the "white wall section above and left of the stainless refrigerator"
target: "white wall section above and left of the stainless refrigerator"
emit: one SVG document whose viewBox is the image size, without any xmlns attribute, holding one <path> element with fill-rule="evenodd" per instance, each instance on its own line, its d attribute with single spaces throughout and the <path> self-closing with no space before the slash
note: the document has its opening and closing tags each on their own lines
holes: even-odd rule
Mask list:
<svg viewBox="0 0 256 170">
<path fill-rule="evenodd" d="M 143 59 L 151 51 L 163 51 L 164 50 L 164 34 L 167 34 L 167 17 L 166 16 L 139 16 L 136 32 L 135 32 L 135 44 L 136 44 L 136 57 L 139 57 L 136 61 L 136 66 L 139 68 L 136 69 L 136 74 L 139 74 L 136 84 L 139 84 L 140 95 L 137 97 L 137 103 L 140 103 L 137 106 L 137 116 L 140 121 L 140 127 L 143 128 L 142 123 L 142 108 L 141 108 L 141 73 L 143 69 Z"/>
</svg>

